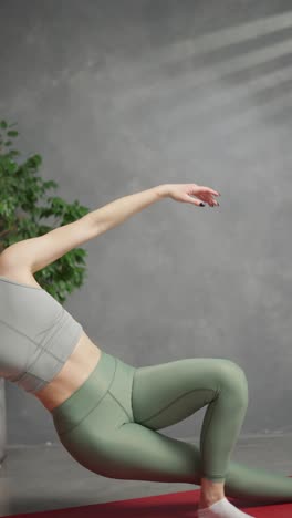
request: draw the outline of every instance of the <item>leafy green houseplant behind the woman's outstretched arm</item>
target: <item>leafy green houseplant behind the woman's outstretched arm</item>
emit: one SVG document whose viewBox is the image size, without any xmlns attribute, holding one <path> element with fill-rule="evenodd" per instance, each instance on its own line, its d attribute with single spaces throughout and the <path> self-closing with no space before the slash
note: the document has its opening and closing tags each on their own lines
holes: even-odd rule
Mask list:
<svg viewBox="0 0 292 518">
<path fill-rule="evenodd" d="M 90 211 L 76 199 L 67 204 L 61 197 L 46 196 L 46 191 L 56 189 L 58 184 L 38 176 L 42 164 L 39 154 L 22 160 L 19 158 L 21 153 L 13 146 L 13 139 L 19 135 L 17 130 L 12 130 L 15 124 L 8 124 L 4 120 L 0 122 L 0 253 L 13 242 L 42 236 Z M 42 222 L 43 218 L 51 216 L 59 219 L 53 227 Z M 67 294 L 84 281 L 86 256 L 86 250 L 75 248 L 35 272 L 34 277 L 43 289 L 63 303 Z"/>
</svg>

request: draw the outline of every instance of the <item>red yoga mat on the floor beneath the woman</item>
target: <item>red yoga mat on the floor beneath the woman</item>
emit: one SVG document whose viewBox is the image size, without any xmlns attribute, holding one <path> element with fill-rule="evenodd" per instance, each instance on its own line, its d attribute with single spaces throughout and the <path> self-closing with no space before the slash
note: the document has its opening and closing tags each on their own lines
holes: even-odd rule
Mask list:
<svg viewBox="0 0 292 518">
<path fill-rule="evenodd" d="M 13 515 L 13 518 L 196 518 L 199 489 L 169 495 L 109 501 L 82 507 L 67 507 L 41 512 Z M 255 518 L 291 518 L 292 503 L 258 505 L 229 498 L 236 507 Z M 10 516 L 11 518 L 11 516 Z"/>
</svg>

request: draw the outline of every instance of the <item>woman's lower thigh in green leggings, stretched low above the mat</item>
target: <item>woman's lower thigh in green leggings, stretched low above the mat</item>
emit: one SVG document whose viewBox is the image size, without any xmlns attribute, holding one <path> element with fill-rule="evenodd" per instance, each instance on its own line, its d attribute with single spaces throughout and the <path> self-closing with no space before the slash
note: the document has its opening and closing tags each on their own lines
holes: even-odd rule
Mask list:
<svg viewBox="0 0 292 518">
<path fill-rule="evenodd" d="M 131 422 L 109 392 L 60 439 L 79 464 L 107 478 L 200 484 L 198 447 Z"/>
</svg>

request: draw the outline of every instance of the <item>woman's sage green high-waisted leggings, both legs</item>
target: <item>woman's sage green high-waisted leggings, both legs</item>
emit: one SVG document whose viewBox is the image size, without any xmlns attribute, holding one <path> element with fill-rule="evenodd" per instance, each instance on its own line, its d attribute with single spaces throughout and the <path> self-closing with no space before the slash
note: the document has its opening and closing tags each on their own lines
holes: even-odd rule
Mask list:
<svg viewBox="0 0 292 518">
<path fill-rule="evenodd" d="M 165 428 L 207 406 L 200 445 Z M 108 478 L 225 481 L 229 497 L 292 501 L 292 478 L 230 460 L 248 407 L 244 372 L 223 359 L 134 367 L 102 351 L 96 367 L 51 415 L 70 455 Z"/>
</svg>

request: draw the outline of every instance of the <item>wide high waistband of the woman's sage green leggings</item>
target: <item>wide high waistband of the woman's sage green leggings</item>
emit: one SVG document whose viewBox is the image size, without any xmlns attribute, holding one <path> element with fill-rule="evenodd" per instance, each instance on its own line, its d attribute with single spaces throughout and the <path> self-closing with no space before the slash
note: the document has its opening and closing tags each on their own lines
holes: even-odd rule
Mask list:
<svg viewBox="0 0 292 518">
<path fill-rule="evenodd" d="M 60 434 L 64 434 L 74 426 L 74 416 L 77 418 L 75 423 L 77 425 L 98 405 L 115 379 L 116 366 L 117 359 L 101 350 L 100 361 L 85 382 L 51 412 Z"/>
</svg>

